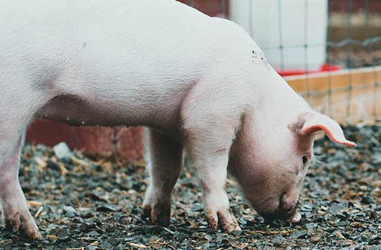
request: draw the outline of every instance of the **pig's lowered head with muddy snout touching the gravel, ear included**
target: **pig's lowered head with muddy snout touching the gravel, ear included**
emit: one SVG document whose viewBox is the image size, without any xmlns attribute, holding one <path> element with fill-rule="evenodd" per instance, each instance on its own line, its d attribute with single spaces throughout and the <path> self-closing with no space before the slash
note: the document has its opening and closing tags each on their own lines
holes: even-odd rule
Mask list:
<svg viewBox="0 0 381 250">
<path fill-rule="evenodd" d="M 266 114 L 261 117 L 266 121 Z M 313 111 L 292 119 L 242 124 L 233 144 L 229 171 L 241 185 L 251 206 L 266 220 L 299 222 L 296 213 L 299 192 L 308 166 L 314 158 L 314 133 L 323 131 L 338 144 L 355 146 L 346 140 L 337 122 Z M 254 125 L 253 125 L 254 124 Z"/>
</svg>

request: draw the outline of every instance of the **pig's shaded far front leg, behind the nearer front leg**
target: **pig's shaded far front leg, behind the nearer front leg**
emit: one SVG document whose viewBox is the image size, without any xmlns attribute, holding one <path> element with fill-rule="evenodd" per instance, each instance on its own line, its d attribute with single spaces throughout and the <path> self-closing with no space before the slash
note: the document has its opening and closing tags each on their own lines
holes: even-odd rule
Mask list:
<svg viewBox="0 0 381 250">
<path fill-rule="evenodd" d="M 143 203 L 143 218 L 168 226 L 172 190 L 181 172 L 182 147 L 157 131 L 150 130 L 150 186 Z"/>
</svg>

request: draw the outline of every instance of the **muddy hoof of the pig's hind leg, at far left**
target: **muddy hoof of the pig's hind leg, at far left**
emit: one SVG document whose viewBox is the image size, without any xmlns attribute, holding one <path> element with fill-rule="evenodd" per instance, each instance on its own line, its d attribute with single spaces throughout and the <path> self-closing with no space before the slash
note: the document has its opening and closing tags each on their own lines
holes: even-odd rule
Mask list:
<svg viewBox="0 0 381 250">
<path fill-rule="evenodd" d="M 39 233 L 38 227 L 33 220 L 29 211 L 17 213 L 4 213 L 6 228 L 17 233 L 21 233 L 30 240 L 41 240 L 42 235 Z"/>
</svg>

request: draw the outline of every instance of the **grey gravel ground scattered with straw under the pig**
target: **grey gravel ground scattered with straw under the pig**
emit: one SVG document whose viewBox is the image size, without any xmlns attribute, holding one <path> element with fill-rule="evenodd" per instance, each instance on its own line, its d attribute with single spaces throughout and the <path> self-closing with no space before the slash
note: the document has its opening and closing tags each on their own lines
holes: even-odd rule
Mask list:
<svg viewBox="0 0 381 250">
<path fill-rule="evenodd" d="M 316 142 L 322 164 L 308 171 L 299 224 L 265 224 L 228 181 L 243 229 L 231 234 L 209 230 L 190 169 L 177 183 L 171 225 L 160 228 L 140 217 L 148 183 L 143 161 L 80 152 L 57 160 L 65 156 L 27 145 L 20 181 L 44 240 L 26 241 L 0 228 L 0 249 L 381 249 L 381 124 L 345 132 L 358 147 Z"/>
</svg>

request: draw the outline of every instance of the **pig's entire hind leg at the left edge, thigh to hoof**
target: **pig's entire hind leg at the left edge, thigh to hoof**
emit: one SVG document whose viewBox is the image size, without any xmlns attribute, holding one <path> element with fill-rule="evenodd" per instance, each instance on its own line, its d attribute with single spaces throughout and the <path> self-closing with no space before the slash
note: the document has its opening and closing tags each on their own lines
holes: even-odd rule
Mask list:
<svg viewBox="0 0 381 250">
<path fill-rule="evenodd" d="M 7 79 L 15 80 L 15 77 Z M 41 235 L 19 185 L 19 158 L 26 128 L 48 99 L 26 82 L 16 84 L 0 79 L 3 90 L 0 99 L 0 203 L 8 228 L 30 239 L 39 239 Z"/>
</svg>

